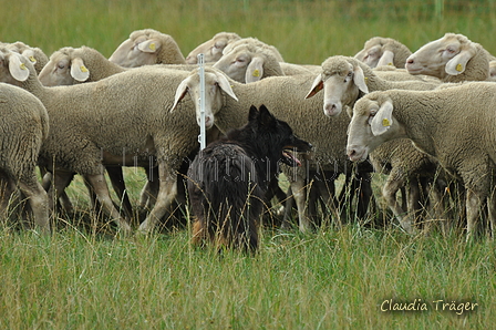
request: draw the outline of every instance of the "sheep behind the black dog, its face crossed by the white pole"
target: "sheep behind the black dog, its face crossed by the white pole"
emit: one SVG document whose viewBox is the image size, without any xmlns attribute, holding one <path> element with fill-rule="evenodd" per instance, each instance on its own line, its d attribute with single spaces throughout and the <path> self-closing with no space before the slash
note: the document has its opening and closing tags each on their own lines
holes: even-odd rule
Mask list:
<svg viewBox="0 0 496 330">
<path fill-rule="evenodd" d="M 275 116 L 287 122 L 296 135 L 313 145 L 313 159 L 308 166 L 332 171 L 334 176 L 329 178 L 330 181 L 337 178 L 341 173 L 353 171 L 343 152 L 350 118 L 342 115 L 333 120 L 322 120 L 319 110 L 322 97 L 304 100 L 306 89 L 310 89 L 312 84 L 312 75 L 270 76 L 259 82 L 241 84 L 228 79 L 215 68 L 206 68 L 205 71 L 207 127 L 215 124 L 223 132 L 239 127 L 245 124 L 251 104 L 256 106 L 265 104 Z M 195 71 L 177 87 L 175 106 L 187 93 L 192 94 L 193 99 L 198 97 L 199 79 Z M 227 95 L 237 95 L 239 101 L 226 97 L 226 93 Z M 200 114 L 197 109 L 198 123 L 199 120 Z M 310 228 L 304 210 L 306 173 L 289 172 L 285 174 L 290 181 L 297 203 L 300 230 L 306 231 Z M 370 183 L 364 182 L 363 184 Z M 371 194 L 371 192 L 366 190 L 366 194 Z M 368 200 L 368 198 L 364 197 L 363 200 Z"/>
</svg>

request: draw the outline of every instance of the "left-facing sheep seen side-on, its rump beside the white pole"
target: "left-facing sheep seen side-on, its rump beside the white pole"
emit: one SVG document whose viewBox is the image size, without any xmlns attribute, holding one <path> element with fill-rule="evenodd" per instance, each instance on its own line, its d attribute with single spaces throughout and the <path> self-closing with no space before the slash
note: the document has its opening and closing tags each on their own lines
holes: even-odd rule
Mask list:
<svg viewBox="0 0 496 330">
<path fill-rule="evenodd" d="M 156 157 L 157 202 L 140 226 L 141 231 L 152 230 L 174 200 L 177 168 L 198 147 L 193 102 L 185 103 L 182 113 L 166 111 L 188 72 L 147 66 L 94 83 L 45 87 L 25 58 L 12 52 L 4 58 L 10 70 L 1 72 L 0 81 L 32 92 L 49 112 L 52 130 L 40 161 L 55 169 L 55 192 L 63 189 L 74 173 L 81 174 L 110 216 L 128 231 L 130 225 L 112 204 L 103 166 L 143 166 Z"/>
</svg>

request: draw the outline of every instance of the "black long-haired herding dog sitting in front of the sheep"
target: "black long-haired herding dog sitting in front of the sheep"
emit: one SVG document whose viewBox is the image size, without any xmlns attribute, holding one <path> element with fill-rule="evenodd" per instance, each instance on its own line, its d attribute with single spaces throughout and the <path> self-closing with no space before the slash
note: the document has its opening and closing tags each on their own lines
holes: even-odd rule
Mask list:
<svg viewBox="0 0 496 330">
<path fill-rule="evenodd" d="M 297 166 L 299 161 L 288 149 L 310 148 L 265 105 L 260 110 L 251 106 L 245 126 L 210 143 L 189 166 L 188 193 L 197 217 L 194 243 L 207 238 L 216 245 L 255 251 L 265 195 L 279 173 L 279 162 Z"/>
</svg>

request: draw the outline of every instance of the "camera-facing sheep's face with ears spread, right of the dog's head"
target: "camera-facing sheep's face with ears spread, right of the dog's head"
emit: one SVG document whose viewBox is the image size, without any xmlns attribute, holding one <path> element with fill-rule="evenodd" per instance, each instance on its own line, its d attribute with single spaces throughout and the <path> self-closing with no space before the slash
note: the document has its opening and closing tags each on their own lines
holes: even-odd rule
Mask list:
<svg viewBox="0 0 496 330">
<path fill-rule="evenodd" d="M 332 63 L 332 64 L 331 64 Z M 322 63 L 322 73 L 313 81 L 307 97 L 323 89 L 323 113 L 339 115 L 343 106 L 352 106 L 360 91 L 368 93 L 362 69 L 353 66 L 344 58 L 330 58 Z"/>
</svg>

